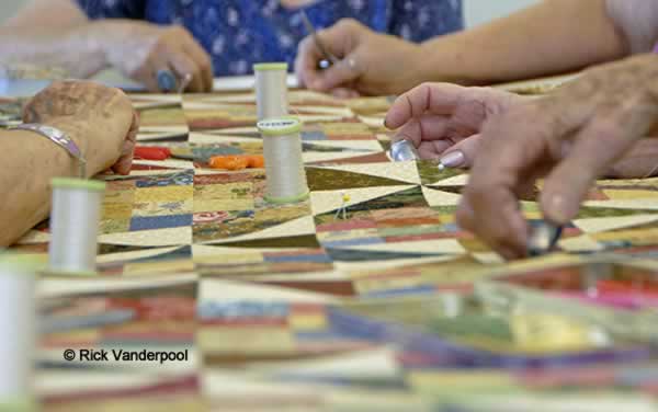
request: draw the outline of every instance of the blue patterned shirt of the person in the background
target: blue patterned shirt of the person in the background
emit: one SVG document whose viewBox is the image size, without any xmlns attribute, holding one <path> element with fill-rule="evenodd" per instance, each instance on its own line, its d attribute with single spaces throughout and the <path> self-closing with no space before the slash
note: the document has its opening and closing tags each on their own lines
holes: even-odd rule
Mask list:
<svg viewBox="0 0 658 412">
<path fill-rule="evenodd" d="M 91 19 L 180 24 L 211 54 L 215 76 L 246 75 L 261 61 L 295 61 L 307 33 L 298 9 L 279 0 L 78 0 Z M 462 0 L 320 0 L 304 7 L 318 28 L 352 18 L 422 42 L 463 27 Z"/>
</svg>

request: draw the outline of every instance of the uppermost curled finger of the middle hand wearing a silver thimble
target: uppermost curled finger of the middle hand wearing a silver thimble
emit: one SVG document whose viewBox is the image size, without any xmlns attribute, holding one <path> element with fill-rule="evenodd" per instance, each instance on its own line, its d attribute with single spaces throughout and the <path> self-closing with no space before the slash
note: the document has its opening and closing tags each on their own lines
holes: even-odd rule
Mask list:
<svg viewBox="0 0 658 412">
<path fill-rule="evenodd" d="M 466 91 L 466 88 L 456 84 L 423 83 L 395 100 L 384 124 L 386 127 L 395 129 L 426 112 L 451 114 Z"/>
</svg>

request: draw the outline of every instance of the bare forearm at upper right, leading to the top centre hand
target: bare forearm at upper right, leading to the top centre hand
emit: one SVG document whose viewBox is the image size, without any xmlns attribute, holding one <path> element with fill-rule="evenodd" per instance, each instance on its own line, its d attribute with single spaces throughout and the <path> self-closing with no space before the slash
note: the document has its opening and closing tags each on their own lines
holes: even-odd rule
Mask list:
<svg viewBox="0 0 658 412">
<path fill-rule="evenodd" d="M 424 80 L 465 84 L 563 73 L 628 54 L 605 0 L 543 1 L 422 48 Z"/>
</svg>

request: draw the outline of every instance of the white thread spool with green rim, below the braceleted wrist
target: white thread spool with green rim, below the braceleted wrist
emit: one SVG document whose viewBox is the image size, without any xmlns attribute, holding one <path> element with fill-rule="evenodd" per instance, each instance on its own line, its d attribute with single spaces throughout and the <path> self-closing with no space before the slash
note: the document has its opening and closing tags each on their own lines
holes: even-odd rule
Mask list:
<svg viewBox="0 0 658 412">
<path fill-rule="evenodd" d="M 55 178 L 52 185 L 49 271 L 66 275 L 93 275 L 105 184 Z"/>
</svg>

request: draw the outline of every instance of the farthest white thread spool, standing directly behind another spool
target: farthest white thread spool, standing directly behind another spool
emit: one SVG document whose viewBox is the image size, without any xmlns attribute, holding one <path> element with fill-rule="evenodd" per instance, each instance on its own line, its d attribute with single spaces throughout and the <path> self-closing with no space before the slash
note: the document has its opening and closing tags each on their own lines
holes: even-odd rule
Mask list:
<svg viewBox="0 0 658 412">
<path fill-rule="evenodd" d="M 258 119 L 287 116 L 287 64 L 261 62 L 253 65 L 256 73 L 256 103 Z"/>
</svg>

